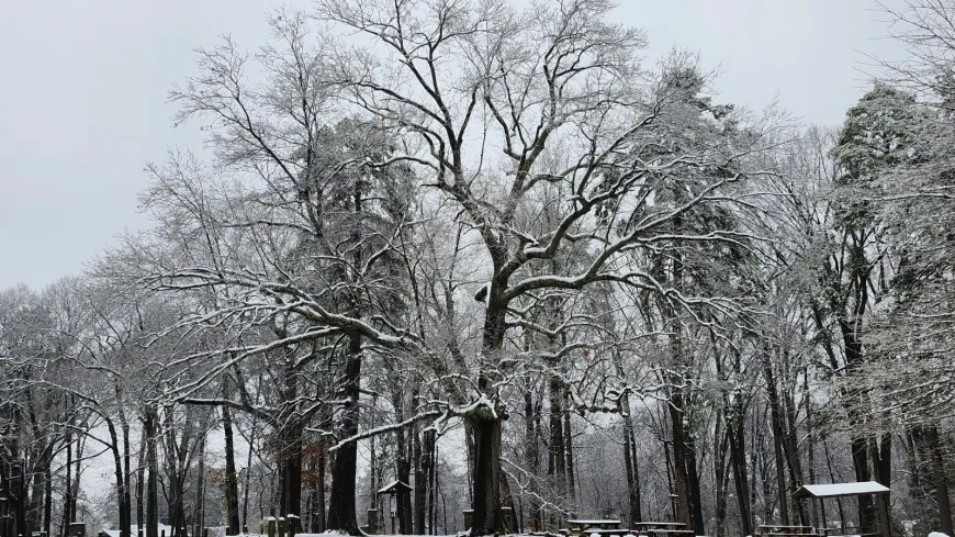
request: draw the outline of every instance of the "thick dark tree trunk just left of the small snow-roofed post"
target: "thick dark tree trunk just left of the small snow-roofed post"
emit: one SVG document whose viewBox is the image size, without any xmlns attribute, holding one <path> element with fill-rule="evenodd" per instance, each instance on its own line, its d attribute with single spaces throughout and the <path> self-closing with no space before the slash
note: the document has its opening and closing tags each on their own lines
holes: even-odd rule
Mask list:
<svg viewBox="0 0 955 537">
<path fill-rule="evenodd" d="M 341 413 L 341 437 L 358 434 L 358 398 L 361 381 L 361 336 L 349 337 L 348 359 L 345 366 L 342 395 L 346 403 Z M 332 502 L 328 506 L 328 529 L 361 535 L 356 517 L 356 470 L 358 443 L 350 441 L 335 455 L 332 467 Z"/>
</svg>

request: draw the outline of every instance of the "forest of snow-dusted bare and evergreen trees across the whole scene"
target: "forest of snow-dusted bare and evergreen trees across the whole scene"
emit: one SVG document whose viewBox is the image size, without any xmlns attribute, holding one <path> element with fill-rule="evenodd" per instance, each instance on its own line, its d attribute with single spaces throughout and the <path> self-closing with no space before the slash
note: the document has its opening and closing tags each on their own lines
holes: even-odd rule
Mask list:
<svg viewBox="0 0 955 537">
<path fill-rule="evenodd" d="M 751 535 L 846 481 L 888 507 L 829 521 L 955 534 L 955 2 L 888 11 L 910 57 L 831 127 L 613 8 L 317 0 L 200 51 L 154 225 L 0 291 L 0 536 L 359 535 L 395 480 L 405 534 Z"/>
</svg>

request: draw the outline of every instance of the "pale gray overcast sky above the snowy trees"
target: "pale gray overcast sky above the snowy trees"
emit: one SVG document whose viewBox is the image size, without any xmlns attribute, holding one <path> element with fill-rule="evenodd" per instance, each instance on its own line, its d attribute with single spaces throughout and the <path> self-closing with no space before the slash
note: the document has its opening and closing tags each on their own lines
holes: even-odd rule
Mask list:
<svg viewBox="0 0 955 537">
<path fill-rule="evenodd" d="M 838 124 L 865 91 L 862 53 L 898 57 L 875 0 L 619 0 L 644 27 L 648 59 L 673 46 L 720 66 L 721 99 L 761 109 L 775 97 L 808 122 Z M 295 0 L 292 5 L 307 5 Z M 274 1 L 7 2 L 0 20 L 0 289 L 43 287 L 124 228 L 142 228 L 143 165 L 172 146 L 166 92 L 193 72 L 192 49 L 231 33 L 263 43 Z"/>
</svg>

